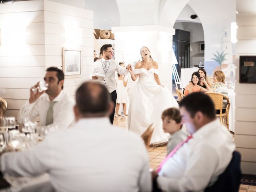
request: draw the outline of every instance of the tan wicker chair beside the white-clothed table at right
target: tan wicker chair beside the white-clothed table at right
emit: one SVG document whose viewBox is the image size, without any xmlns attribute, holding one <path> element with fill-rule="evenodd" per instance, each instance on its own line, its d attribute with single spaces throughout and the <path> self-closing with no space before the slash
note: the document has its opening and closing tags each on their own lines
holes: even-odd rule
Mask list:
<svg viewBox="0 0 256 192">
<path fill-rule="evenodd" d="M 220 113 L 216 114 L 216 117 L 220 117 L 221 124 L 226 126 L 227 129 L 229 130 L 229 127 L 228 127 L 228 113 L 230 109 L 229 98 L 226 95 L 221 93 L 206 93 L 206 94 L 210 96 L 210 98 L 212 98 L 214 102 L 215 110 L 220 111 Z M 222 113 L 222 109 L 225 109 L 223 108 L 223 100 L 227 101 L 226 111 L 224 113 Z M 226 120 L 226 124 L 224 124 L 224 120 Z"/>
</svg>

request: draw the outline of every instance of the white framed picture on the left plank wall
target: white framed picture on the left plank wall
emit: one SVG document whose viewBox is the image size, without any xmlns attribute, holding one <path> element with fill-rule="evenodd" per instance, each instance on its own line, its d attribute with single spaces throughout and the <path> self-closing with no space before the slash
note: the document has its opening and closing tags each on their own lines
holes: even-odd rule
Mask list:
<svg viewBox="0 0 256 192">
<path fill-rule="evenodd" d="M 65 78 L 82 77 L 82 49 L 62 48 L 62 70 Z"/>
</svg>

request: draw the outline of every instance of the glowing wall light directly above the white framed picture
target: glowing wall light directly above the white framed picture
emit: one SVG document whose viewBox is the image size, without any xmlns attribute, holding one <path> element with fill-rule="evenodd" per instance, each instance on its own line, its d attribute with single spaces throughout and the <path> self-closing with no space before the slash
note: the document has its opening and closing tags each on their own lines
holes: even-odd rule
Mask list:
<svg viewBox="0 0 256 192">
<path fill-rule="evenodd" d="M 79 45 L 83 43 L 82 28 L 65 28 L 65 44 L 66 45 Z"/>
</svg>

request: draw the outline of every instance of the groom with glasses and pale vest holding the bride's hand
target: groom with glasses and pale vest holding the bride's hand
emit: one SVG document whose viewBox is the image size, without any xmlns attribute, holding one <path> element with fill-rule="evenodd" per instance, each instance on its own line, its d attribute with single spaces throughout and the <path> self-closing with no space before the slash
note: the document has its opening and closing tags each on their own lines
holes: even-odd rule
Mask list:
<svg viewBox="0 0 256 192">
<path fill-rule="evenodd" d="M 128 69 L 131 68 L 129 64 L 126 68 L 120 66 L 118 62 L 112 60 L 113 57 L 113 49 L 111 44 L 105 44 L 100 48 L 100 52 L 102 53 L 102 59 L 94 62 L 92 66 L 92 70 L 90 72 L 90 79 L 97 80 L 99 75 L 104 76 L 104 80 L 101 82 L 107 89 L 108 92 L 111 94 L 111 99 L 116 104 L 116 78 L 115 78 L 115 71 L 117 71 L 120 75 L 124 75 L 128 73 Z M 113 124 L 114 122 L 114 114 L 110 115 L 110 122 Z"/>
</svg>

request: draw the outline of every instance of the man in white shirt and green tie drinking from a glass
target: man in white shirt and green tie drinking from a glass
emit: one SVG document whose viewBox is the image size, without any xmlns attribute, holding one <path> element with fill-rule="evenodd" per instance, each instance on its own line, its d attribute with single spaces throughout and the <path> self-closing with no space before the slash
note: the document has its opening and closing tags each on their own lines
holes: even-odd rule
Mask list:
<svg viewBox="0 0 256 192">
<path fill-rule="evenodd" d="M 23 123 L 24 118 L 34 120 L 40 117 L 41 126 L 58 126 L 65 129 L 74 121 L 73 107 L 75 101 L 62 91 L 64 84 L 64 73 L 56 67 L 46 69 L 44 76 L 45 83 L 48 84 L 46 91 L 36 93 L 33 88 L 39 86 L 39 82 L 30 89 L 30 98 L 22 106 L 18 114 L 18 122 Z"/>
</svg>

